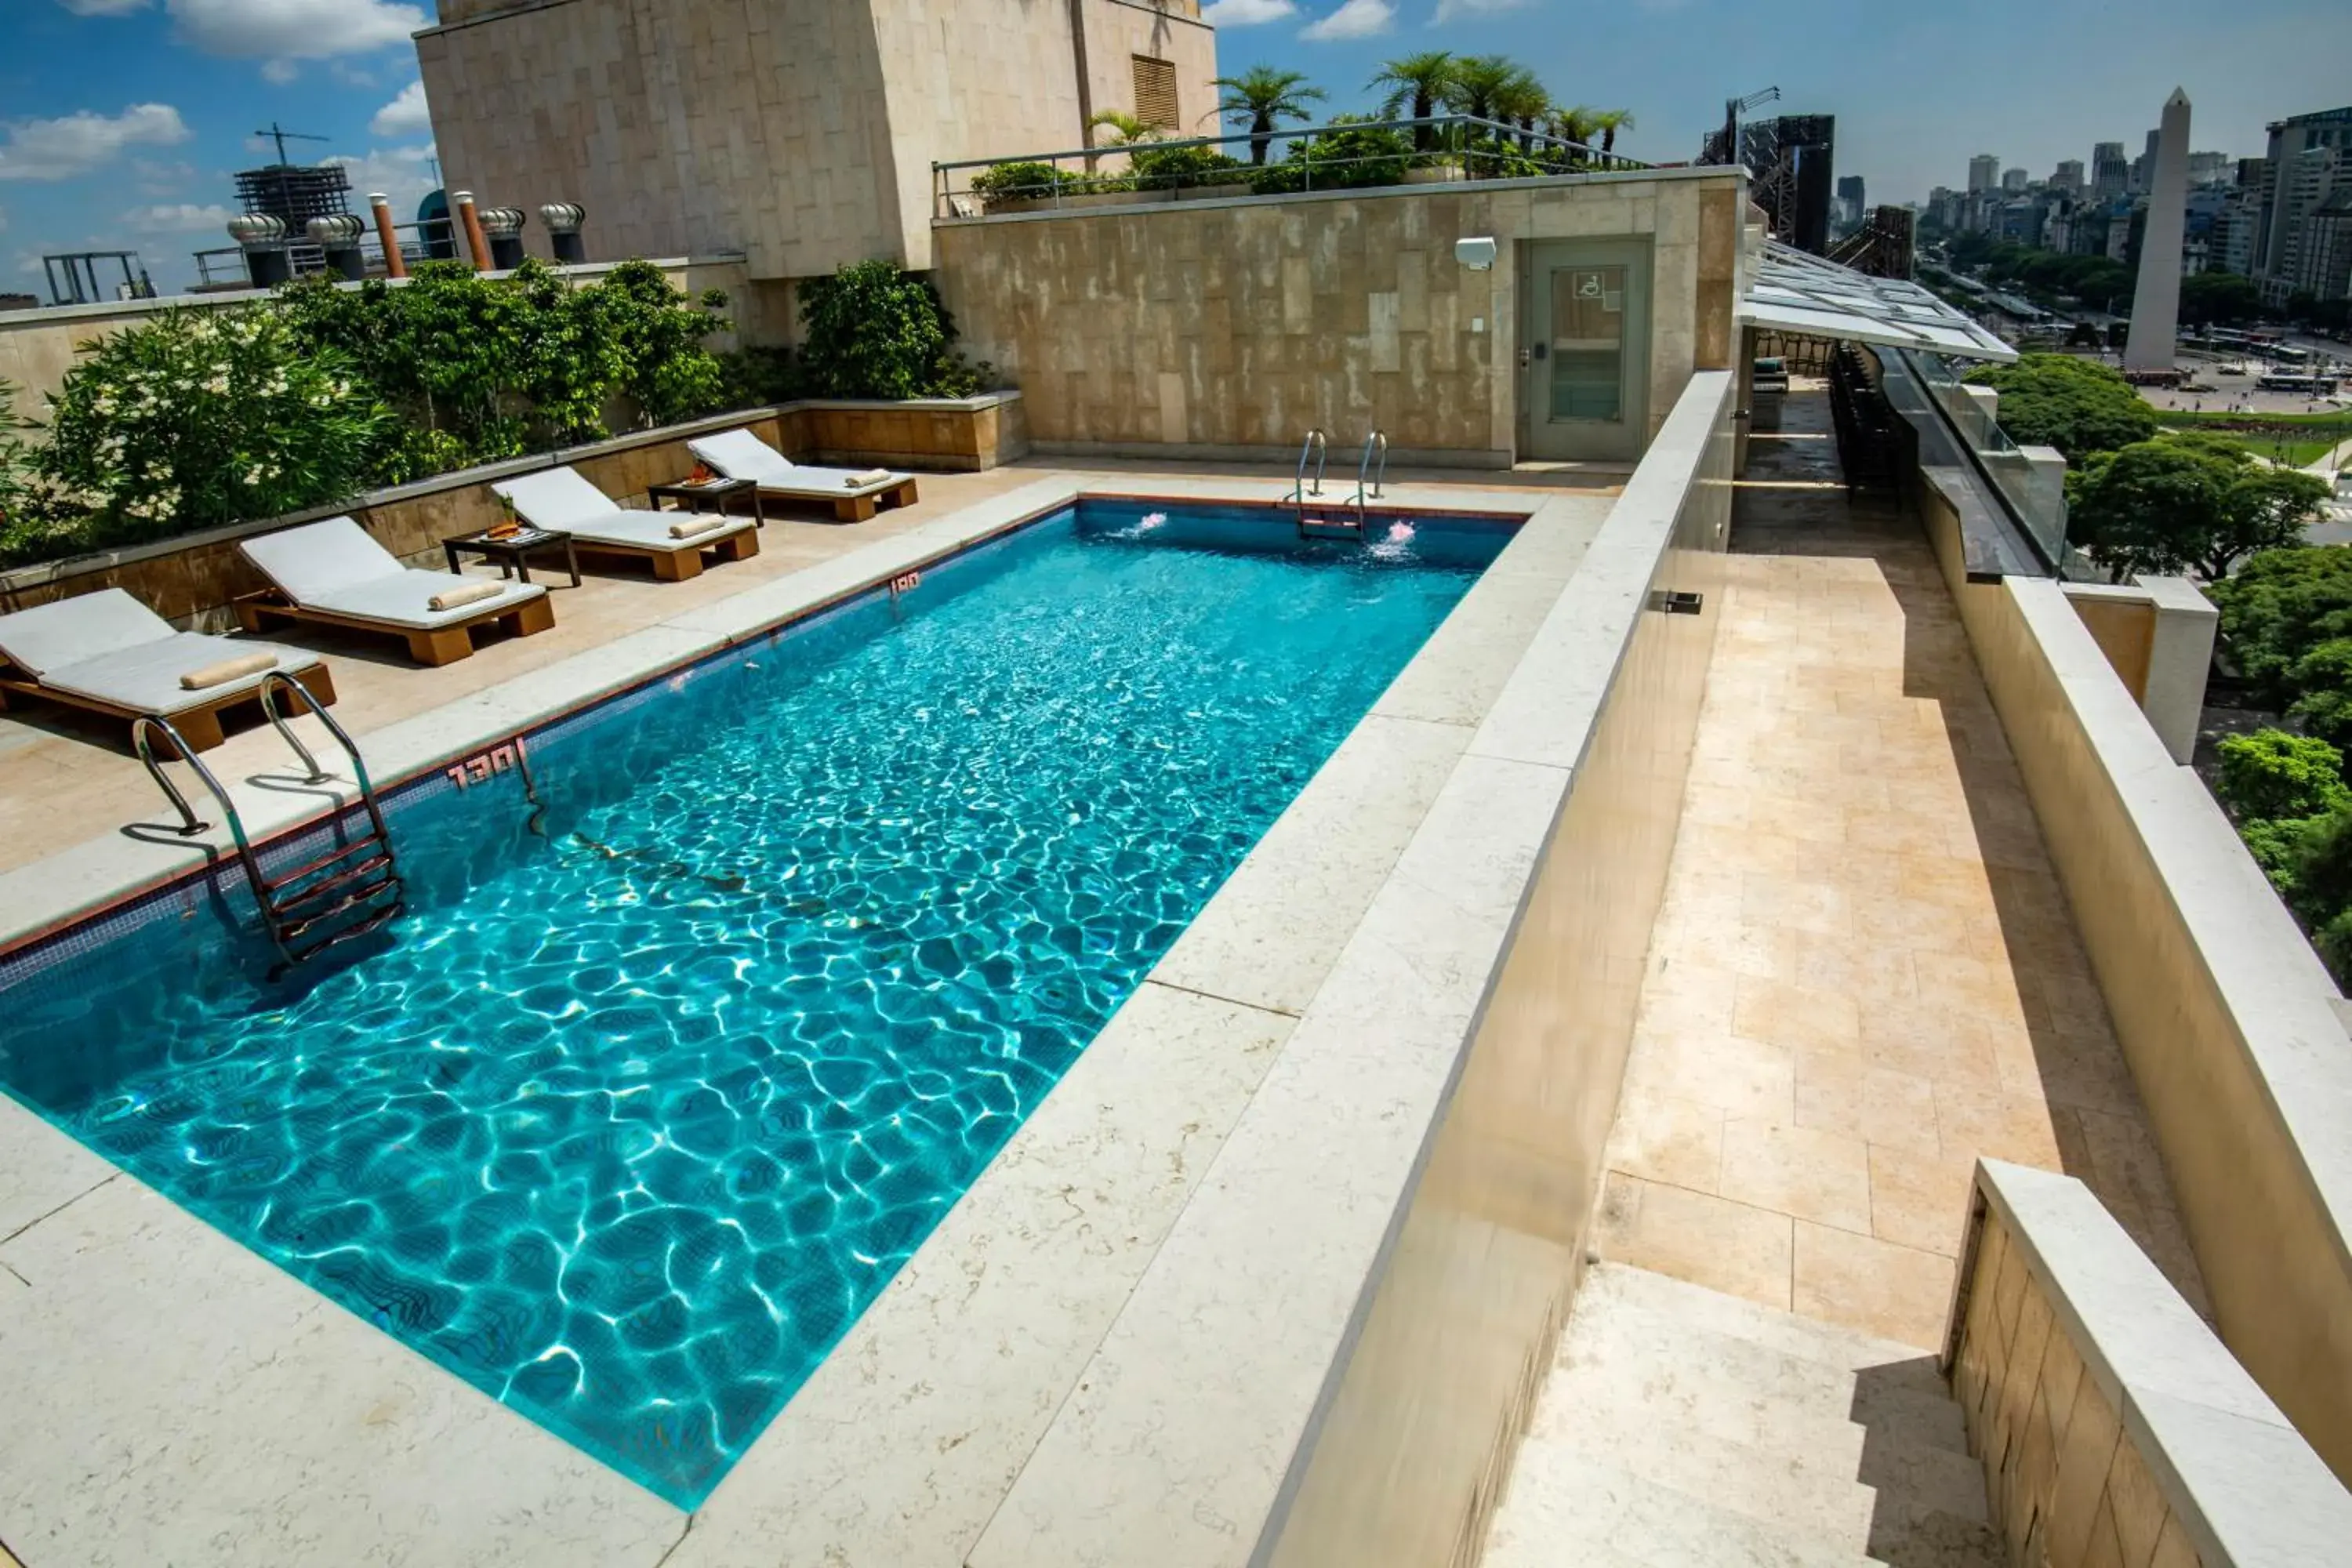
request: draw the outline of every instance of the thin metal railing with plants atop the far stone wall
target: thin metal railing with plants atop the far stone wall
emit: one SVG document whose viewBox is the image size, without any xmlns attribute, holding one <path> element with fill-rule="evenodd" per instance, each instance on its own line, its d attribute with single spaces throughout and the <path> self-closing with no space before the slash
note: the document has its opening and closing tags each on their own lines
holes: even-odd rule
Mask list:
<svg viewBox="0 0 2352 1568">
<path fill-rule="evenodd" d="M 931 216 L 981 219 L 1073 205 L 1301 195 L 1651 167 L 1656 165 L 1503 120 L 1430 115 L 934 162 Z"/>
</svg>

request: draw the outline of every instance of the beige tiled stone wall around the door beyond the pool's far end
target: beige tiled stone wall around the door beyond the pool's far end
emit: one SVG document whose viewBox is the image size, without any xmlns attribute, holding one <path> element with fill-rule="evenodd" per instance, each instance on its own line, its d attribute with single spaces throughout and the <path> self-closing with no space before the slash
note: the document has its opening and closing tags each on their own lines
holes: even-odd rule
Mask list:
<svg viewBox="0 0 2352 1568">
<path fill-rule="evenodd" d="M 974 357 L 1070 444 L 1517 449 L 1522 240 L 1651 235 L 1651 430 L 1731 362 L 1736 172 L 1409 186 L 941 223 L 938 284 Z M 1491 273 L 1454 242 L 1501 240 Z"/>
</svg>

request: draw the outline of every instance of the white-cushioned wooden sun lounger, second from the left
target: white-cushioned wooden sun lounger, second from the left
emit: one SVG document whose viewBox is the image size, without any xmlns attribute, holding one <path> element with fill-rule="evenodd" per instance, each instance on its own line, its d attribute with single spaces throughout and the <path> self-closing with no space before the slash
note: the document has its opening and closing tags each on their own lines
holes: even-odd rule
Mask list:
<svg viewBox="0 0 2352 1568">
<path fill-rule="evenodd" d="M 238 621 L 313 621 L 405 637 L 421 665 L 473 654 L 473 628 L 506 623 L 515 637 L 555 625 L 555 604 L 536 583 L 489 583 L 449 571 L 412 571 L 350 517 L 329 517 L 238 545 L 270 581 L 238 599 Z M 499 592 L 482 597 L 480 588 Z M 433 602 L 440 599 L 442 607 Z"/>
</svg>

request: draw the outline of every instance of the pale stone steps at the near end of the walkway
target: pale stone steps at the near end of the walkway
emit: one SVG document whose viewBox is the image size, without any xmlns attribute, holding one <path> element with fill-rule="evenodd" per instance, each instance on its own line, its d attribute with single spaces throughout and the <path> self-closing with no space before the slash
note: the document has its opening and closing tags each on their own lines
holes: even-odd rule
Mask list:
<svg viewBox="0 0 2352 1568">
<path fill-rule="evenodd" d="M 1933 1359 L 1602 1262 L 1486 1561 L 1990 1568 L 1999 1547 Z"/>
</svg>

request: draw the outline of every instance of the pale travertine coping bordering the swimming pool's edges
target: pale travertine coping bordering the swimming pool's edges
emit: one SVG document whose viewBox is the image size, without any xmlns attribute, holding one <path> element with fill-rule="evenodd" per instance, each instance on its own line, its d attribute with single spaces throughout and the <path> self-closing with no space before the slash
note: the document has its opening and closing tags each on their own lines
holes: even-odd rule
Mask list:
<svg viewBox="0 0 2352 1568">
<path fill-rule="evenodd" d="M 390 773 L 447 755 L 452 736 L 513 733 L 550 705 L 753 635 L 1087 487 L 1197 498 L 1287 491 L 1287 477 L 1247 470 L 1030 468 L 988 480 L 988 491 L 962 496 L 938 487 L 946 505 L 894 517 L 896 529 L 804 538 L 771 524 L 767 550 L 748 564 L 767 562 L 762 571 L 708 571 L 684 585 L 694 597 L 677 597 L 680 585 L 609 585 L 600 597 L 612 618 L 532 656 L 529 668 L 487 661 L 520 661 L 543 639 L 482 649 L 445 672 L 343 658 L 353 696 L 341 712 Z M 1468 757 L 1472 736 L 1505 682 L 1536 661 L 1531 646 L 1613 501 L 1590 482 L 1437 480 L 1399 480 L 1390 501 L 1515 510 L 1529 522 L 691 1516 L 0 1100 L 0 1382 L 9 1387 L 0 1540 L 33 1568 L 967 1561 L 1301 1027 L 1301 1009 L 1324 990 L 1345 938 L 1404 875 L 1411 844 L 1475 837 L 1494 816 L 1491 790 L 1479 788 L 1486 773 Z M 781 569 L 788 541 L 814 555 Z M 579 597 L 590 602 L 588 590 Z M 454 682 L 430 701 L 402 689 L 440 675 Z M 89 778 L 113 769 L 139 785 L 120 797 L 132 816 L 160 818 L 134 762 L 78 745 L 89 752 L 80 764 Z M 282 771 L 275 736 L 240 736 L 230 748 L 214 752 L 216 766 L 254 811 L 318 809 L 252 783 Z M 24 905 L 87 900 L 141 865 L 188 858 L 183 846 L 125 839 L 122 813 L 89 809 L 85 818 L 94 839 L 0 872 L 0 922 L 14 926 Z M 1541 823 L 1531 842 L 1534 830 Z M 1496 882 L 1486 889 L 1496 910 L 1482 907 L 1477 926 L 1501 943 L 1517 884 L 1475 856 L 1423 853 L 1437 863 L 1418 867 L 1414 886 L 1449 891 L 1463 867 L 1482 889 Z M 1526 865 L 1515 872 L 1524 877 Z M 1395 985 L 1409 994 L 1411 980 Z"/>
</svg>

